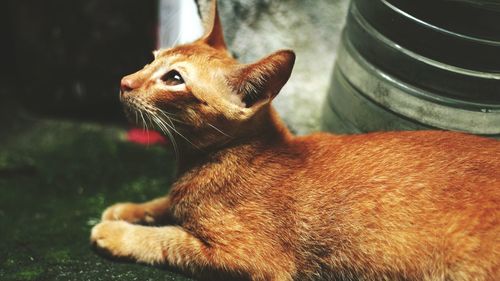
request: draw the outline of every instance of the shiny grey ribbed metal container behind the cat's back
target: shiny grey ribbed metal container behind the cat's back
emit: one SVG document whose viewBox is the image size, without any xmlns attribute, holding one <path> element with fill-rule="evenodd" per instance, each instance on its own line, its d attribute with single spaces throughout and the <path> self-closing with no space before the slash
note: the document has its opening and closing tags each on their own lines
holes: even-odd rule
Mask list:
<svg viewBox="0 0 500 281">
<path fill-rule="evenodd" d="M 444 24 L 435 20 L 435 10 L 426 16 L 409 1 L 353 1 L 324 109 L 325 129 L 438 128 L 500 136 L 500 37 L 493 36 L 500 9 L 495 3 L 471 6 L 471 16 L 484 14 L 476 28 L 499 21 L 475 32 L 453 25 L 464 12 L 460 5 L 470 4 L 452 2 L 433 2 L 439 9 L 448 3 Z"/>
</svg>

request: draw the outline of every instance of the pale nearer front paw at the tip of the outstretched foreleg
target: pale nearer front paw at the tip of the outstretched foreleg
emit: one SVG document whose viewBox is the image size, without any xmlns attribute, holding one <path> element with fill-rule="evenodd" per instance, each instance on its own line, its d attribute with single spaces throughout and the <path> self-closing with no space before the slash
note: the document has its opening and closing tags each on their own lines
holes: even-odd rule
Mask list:
<svg viewBox="0 0 500 281">
<path fill-rule="evenodd" d="M 115 256 L 128 257 L 126 236 L 131 225 L 125 221 L 104 221 L 92 228 L 90 241 L 100 251 Z"/>
</svg>

